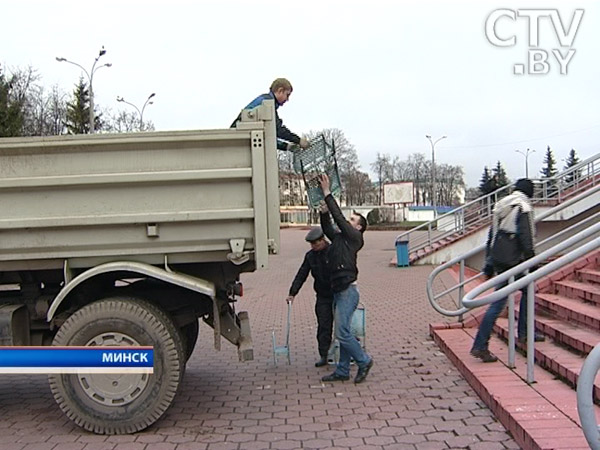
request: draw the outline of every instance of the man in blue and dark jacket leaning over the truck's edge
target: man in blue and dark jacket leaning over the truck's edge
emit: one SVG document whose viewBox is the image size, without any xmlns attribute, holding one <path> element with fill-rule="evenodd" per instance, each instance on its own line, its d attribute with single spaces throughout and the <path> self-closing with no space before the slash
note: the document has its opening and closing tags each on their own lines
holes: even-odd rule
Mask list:
<svg viewBox="0 0 600 450">
<path fill-rule="evenodd" d="M 283 106 L 285 102 L 290 99 L 290 95 L 292 95 L 292 84 L 285 78 L 277 78 L 273 83 L 271 83 L 271 87 L 269 88 L 269 92 L 266 94 L 259 95 L 254 100 L 252 100 L 244 109 L 253 109 L 257 106 L 262 105 L 265 100 L 275 100 L 275 127 L 277 129 L 277 148 L 279 150 L 291 150 L 291 147 L 296 144 L 302 148 L 308 147 L 308 140 L 305 138 L 301 138 L 295 133 L 292 133 L 284 124 L 283 121 L 279 118 L 279 114 L 277 110 L 280 106 Z M 241 120 L 242 113 L 237 116 L 237 118 L 231 124 L 231 127 L 235 127 L 236 123 Z"/>
</svg>

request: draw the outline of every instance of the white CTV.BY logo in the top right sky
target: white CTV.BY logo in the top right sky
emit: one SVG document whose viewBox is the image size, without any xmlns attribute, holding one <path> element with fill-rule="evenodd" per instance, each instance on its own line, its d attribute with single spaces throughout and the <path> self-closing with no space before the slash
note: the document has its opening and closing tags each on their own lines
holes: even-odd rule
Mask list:
<svg viewBox="0 0 600 450">
<path fill-rule="evenodd" d="M 583 9 L 576 9 L 570 25 L 565 28 L 560 13 L 556 9 L 496 9 L 491 12 L 485 21 L 485 37 L 496 47 L 513 47 L 517 43 L 517 37 L 514 34 L 501 37 L 499 34 L 502 33 L 499 33 L 499 31 L 502 25 L 506 25 L 507 20 L 515 22 L 518 18 L 524 18 L 528 26 L 528 57 L 525 64 L 515 64 L 513 66 L 514 73 L 516 75 L 547 74 L 550 72 L 550 66 L 554 61 L 550 58 L 552 54 L 559 65 L 561 75 L 566 75 L 569 64 L 575 56 L 573 42 L 579 30 L 583 12 Z M 561 47 L 560 49 L 549 49 L 550 52 L 548 49 L 540 48 L 540 19 L 548 21 L 548 17 Z M 503 20 L 500 21 L 500 19 Z"/>
</svg>

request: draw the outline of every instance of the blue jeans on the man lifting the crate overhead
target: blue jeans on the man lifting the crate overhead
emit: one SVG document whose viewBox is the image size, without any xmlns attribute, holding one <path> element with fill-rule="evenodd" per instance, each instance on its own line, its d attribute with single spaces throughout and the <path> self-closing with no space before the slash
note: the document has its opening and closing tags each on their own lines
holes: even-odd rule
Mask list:
<svg viewBox="0 0 600 450">
<path fill-rule="evenodd" d="M 335 373 L 342 377 L 350 375 L 350 358 L 354 359 L 359 368 L 365 367 L 371 361 L 351 330 L 352 315 L 358 306 L 358 299 L 358 288 L 355 284 L 351 284 L 342 292 L 333 293 L 335 337 L 340 343 L 340 360 Z"/>
</svg>

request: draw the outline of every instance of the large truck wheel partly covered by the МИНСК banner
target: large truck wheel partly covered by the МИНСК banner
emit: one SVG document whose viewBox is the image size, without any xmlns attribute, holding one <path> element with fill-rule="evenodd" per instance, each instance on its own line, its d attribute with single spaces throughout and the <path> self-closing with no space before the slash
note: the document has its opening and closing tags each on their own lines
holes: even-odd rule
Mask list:
<svg viewBox="0 0 600 450">
<path fill-rule="evenodd" d="M 179 331 L 156 306 L 115 297 L 84 306 L 60 327 L 53 345 L 153 346 L 153 374 L 49 375 L 54 399 L 77 425 L 124 434 L 156 422 L 171 405 L 185 353 Z"/>
</svg>

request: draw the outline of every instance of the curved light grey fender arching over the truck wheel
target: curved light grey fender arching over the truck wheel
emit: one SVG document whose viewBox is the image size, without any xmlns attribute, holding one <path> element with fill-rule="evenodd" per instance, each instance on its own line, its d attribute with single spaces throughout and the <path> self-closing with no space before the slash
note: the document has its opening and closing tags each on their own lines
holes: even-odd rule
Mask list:
<svg viewBox="0 0 600 450">
<path fill-rule="evenodd" d="M 140 275 L 156 278 L 166 283 L 171 283 L 192 291 L 199 292 L 207 297 L 210 297 L 213 300 L 213 304 L 215 303 L 215 285 L 210 281 L 161 269 L 159 267 L 151 266 L 150 264 L 133 261 L 116 261 L 93 267 L 67 282 L 52 301 L 52 304 L 48 309 L 46 320 L 50 322 L 54 318 L 54 315 L 56 314 L 56 311 L 60 307 L 61 303 L 68 297 L 71 291 L 73 291 L 73 289 L 75 289 L 81 283 L 103 273 L 121 271 L 138 273 Z"/>
</svg>

